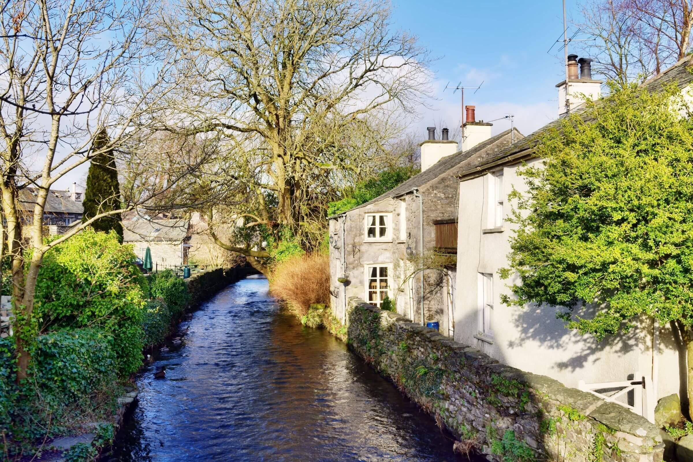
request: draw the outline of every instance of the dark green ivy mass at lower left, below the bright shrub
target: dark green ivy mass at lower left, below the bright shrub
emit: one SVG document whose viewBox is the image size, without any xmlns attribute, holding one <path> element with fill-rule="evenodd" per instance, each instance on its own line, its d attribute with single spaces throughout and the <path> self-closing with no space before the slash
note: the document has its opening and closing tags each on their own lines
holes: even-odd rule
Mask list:
<svg viewBox="0 0 693 462">
<path fill-rule="evenodd" d="M 85 414 L 110 414 L 119 387 L 112 335 L 96 328 L 41 335 L 29 364 L 32 380 L 21 386 L 15 382 L 14 348 L 11 338 L 0 339 L 3 453 L 60 434 Z"/>
</svg>

